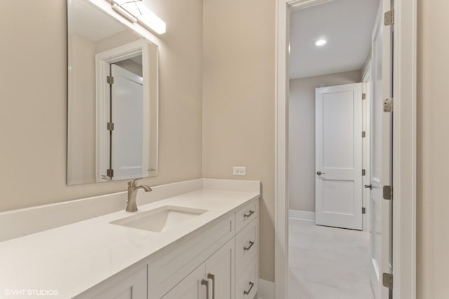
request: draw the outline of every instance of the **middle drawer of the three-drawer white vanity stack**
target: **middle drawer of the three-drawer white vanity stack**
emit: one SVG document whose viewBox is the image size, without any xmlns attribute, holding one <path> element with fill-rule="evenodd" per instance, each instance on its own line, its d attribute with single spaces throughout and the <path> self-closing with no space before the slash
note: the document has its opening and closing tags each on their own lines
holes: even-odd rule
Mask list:
<svg viewBox="0 0 449 299">
<path fill-rule="evenodd" d="M 244 270 L 244 264 L 248 260 L 253 260 L 255 255 L 259 252 L 259 238 L 258 238 L 258 218 L 249 222 L 236 235 L 236 276 L 239 277 Z"/>
</svg>

